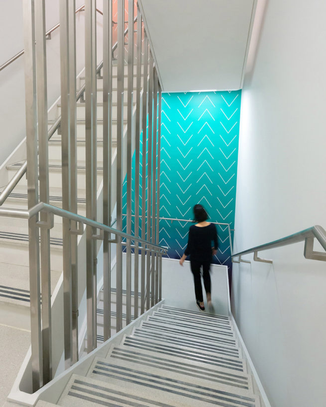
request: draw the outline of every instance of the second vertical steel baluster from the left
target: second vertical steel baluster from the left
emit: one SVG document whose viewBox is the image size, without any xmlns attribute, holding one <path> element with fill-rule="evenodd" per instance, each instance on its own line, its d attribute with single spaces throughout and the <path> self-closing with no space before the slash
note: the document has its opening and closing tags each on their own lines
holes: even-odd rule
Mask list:
<svg viewBox="0 0 326 407">
<path fill-rule="evenodd" d="M 37 70 L 37 110 L 39 145 L 39 183 L 40 200 L 49 203 L 48 169 L 48 113 L 47 78 L 45 46 L 45 4 L 44 0 L 35 3 L 35 39 Z M 47 222 L 48 214 L 40 214 L 41 222 Z M 43 347 L 43 385 L 52 379 L 52 341 L 51 341 L 51 277 L 50 277 L 50 230 L 41 228 L 41 288 L 42 288 L 42 347 Z"/>
</svg>

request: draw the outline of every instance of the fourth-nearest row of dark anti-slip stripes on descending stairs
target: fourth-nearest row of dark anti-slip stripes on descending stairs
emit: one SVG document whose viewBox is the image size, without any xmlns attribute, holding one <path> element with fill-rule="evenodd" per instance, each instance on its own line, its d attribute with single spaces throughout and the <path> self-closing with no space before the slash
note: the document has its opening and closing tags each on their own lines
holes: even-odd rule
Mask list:
<svg viewBox="0 0 326 407">
<path fill-rule="evenodd" d="M 232 367 L 239 367 L 241 368 L 243 363 L 241 360 L 235 360 L 235 359 L 229 359 L 229 358 L 225 358 L 222 356 L 214 356 L 214 355 L 207 355 L 201 352 L 194 352 L 194 351 L 186 351 L 183 348 L 179 348 L 179 347 L 172 347 L 172 346 L 164 346 L 163 344 L 156 344 L 155 345 L 151 342 L 146 342 L 146 341 L 141 341 L 133 338 L 128 338 L 126 337 L 123 344 L 124 345 L 128 345 L 129 343 L 131 343 L 132 346 L 132 342 L 136 342 L 136 344 L 142 344 L 154 349 L 162 349 L 171 353 L 176 353 L 177 355 L 187 355 L 187 356 L 192 356 L 195 358 L 200 358 L 200 361 L 203 360 L 208 360 L 210 362 L 219 362 L 219 363 L 224 363 L 227 366 L 232 366 Z M 155 350 L 156 351 L 156 350 Z M 184 357 L 184 356 L 180 356 L 180 357 Z"/>
</svg>

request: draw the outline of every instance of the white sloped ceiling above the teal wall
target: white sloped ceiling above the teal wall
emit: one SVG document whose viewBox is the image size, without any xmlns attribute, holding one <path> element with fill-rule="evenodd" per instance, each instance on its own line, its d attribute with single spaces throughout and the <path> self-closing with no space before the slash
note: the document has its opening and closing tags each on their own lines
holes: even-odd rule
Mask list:
<svg viewBox="0 0 326 407">
<path fill-rule="evenodd" d="M 242 87 L 256 0 L 138 0 L 162 90 Z"/>
</svg>

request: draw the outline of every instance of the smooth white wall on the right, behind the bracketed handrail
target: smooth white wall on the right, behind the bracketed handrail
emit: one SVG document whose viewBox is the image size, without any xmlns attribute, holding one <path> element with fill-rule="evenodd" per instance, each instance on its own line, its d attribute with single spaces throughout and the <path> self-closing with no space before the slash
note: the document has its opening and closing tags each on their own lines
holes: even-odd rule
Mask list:
<svg viewBox="0 0 326 407">
<path fill-rule="evenodd" d="M 242 91 L 235 252 L 326 229 L 326 3 L 264 5 Z M 233 267 L 232 311 L 274 407 L 325 406 L 326 263 L 303 248 Z"/>
</svg>

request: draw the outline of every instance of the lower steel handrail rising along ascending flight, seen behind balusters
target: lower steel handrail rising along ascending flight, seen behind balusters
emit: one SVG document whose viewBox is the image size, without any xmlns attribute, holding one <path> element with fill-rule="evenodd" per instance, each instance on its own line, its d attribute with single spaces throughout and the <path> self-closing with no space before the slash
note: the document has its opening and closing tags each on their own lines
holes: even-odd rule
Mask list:
<svg viewBox="0 0 326 407">
<path fill-rule="evenodd" d="M 83 5 L 83 7 L 85 7 L 85 6 Z M 79 7 L 79 8 L 81 8 L 81 7 Z M 81 11 L 81 10 L 78 9 L 78 11 Z M 77 12 L 77 10 L 76 10 L 76 12 Z M 134 23 L 136 21 L 137 21 L 137 17 L 134 18 Z M 124 36 L 127 34 L 127 32 L 128 32 L 128 28 L 126 28 L 124 30 Z M 117 48 L 117 42 L 113 45 L 112 52 L 114 52 L 116 50 L 116 48 Z M 102 68 L 103 68 L 103 61 L 100 62 L 100 64 L 98 65 L 96 72 L 97 73 L 101 72 Z M 86 88 L 86 84 L 84 83 L 84 85 L 77 92 L 77 95 L 76 95 L 76 101 L 77 102 L 82 97 L 82 95 L 84 94 L 85 88 Z M 48 131 L 48 140 L 50 140 L 50 138 L 58 130 L 58 128 L 60 127 L 60 124 L 61 124 L 61 115 L 57 118 L 55 123 L 49 129 L 49 131 Z M 14 174 L 14 176 L 11 178 L 11 180 L 8 182 L 8 184 L 5 186 L 3 191 L 0 193 L 0 206 L 4 203 L 4 201 L 7 199 L 8 195 L 12 192 L 13 188 L 17 185 L 17 183 L 23 177 L 23 175 L 26 172 L 26 169 L 27 169 L 27 162 L 25 161 L 21 165 L 21 167 L 18 169 L 18 171 Z"/>
</svg>

